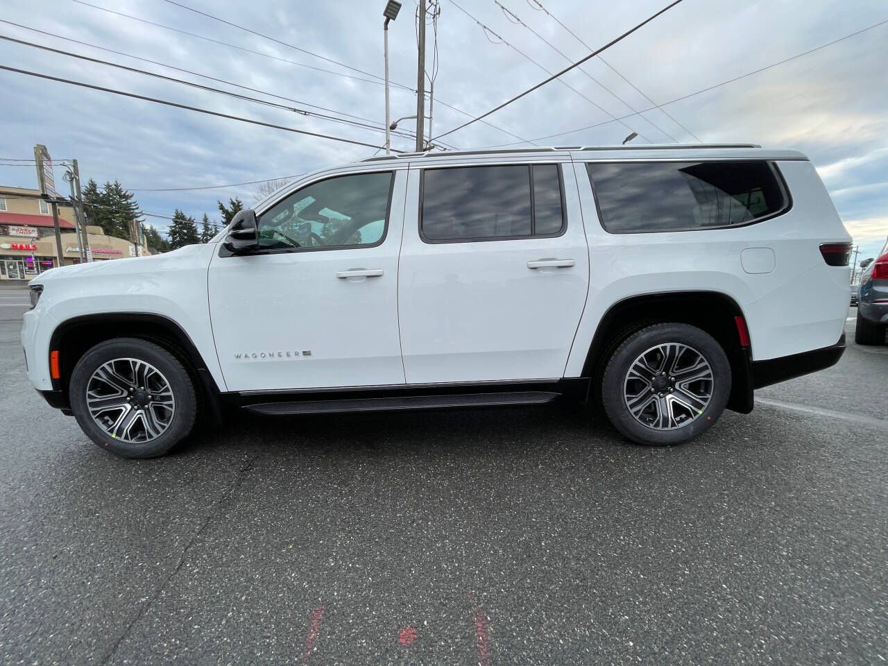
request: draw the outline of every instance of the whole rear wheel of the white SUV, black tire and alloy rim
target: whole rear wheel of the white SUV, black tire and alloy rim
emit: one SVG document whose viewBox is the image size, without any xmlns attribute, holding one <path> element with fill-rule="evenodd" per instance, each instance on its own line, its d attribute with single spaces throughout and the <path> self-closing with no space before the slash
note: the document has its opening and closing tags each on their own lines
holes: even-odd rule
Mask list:
<svg viewBox="0 0 888 666">
<path fill-rule="evenodd" d="M 718 420 L 731 392 L 731 365 L 709 333 L 661 323 L 626 338 L 607 361 L 601 399 L 607 417 L 639 444 L 696 437 Z"/>
</svg>

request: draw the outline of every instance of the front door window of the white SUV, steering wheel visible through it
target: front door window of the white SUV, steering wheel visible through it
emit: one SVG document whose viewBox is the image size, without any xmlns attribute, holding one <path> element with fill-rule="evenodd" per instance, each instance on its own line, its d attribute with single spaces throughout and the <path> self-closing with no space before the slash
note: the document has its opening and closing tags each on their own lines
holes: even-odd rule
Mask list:
<svg viewBox="0 0 888 666">
<path fill-rule="evenodd" d="M 391 171 L 305 186 L 258 219 L 259 246 L 271 250 L 374 245 L 385 237 Z"/>
</svg>

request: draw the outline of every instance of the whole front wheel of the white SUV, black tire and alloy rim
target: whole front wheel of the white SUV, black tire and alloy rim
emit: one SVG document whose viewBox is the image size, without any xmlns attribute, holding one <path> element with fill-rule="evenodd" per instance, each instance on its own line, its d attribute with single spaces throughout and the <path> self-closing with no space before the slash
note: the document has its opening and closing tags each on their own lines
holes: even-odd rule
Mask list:
<svg viewBox="0 0 888 666">
<path fill-rule="evenodd" d="M 194 426 L 194 385 L 163 347 L 109 340 L 77 361 L 68 388 L 77 423 L 118 456 L 163 456 Z"/>
</svg>

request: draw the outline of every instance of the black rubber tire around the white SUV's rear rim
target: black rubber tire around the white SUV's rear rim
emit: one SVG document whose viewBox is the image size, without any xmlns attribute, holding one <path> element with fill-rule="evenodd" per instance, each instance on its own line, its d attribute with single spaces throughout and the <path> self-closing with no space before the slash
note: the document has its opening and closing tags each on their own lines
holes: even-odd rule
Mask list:
<svg viewBox="0 0 888 666">
<path fill-rule="evenodd" d="M 711 384 L 703 386 L 710 391 L 710 399 L 704 408 L 697 410 L 699 413 L 696 415 L 693 415 L 691 410 L 677 408 L 678 416 L 674 427 L 656 429 L 653 425 L 641 423 L 632 415 L 624 392 L 627 386 L 627 374 L 639 356 L 657 345 L 665 344 L 691 347 L 709 364 Z M 664 377 L 659 381 L 669 384 L 669 379 L 670 377 Z M 663 395 L 667 392 L 669 389 L 664 389 Z M 628 439 L 648 446 L 679 444 L 701 434 L 718 421 L 718 417 L 725 410 L 730 393 L 731 364 L 727 360 L 725 350 L 706 331 L 681 323 L 654 324 L 627 337 L 607 360 L 607 367 L 601 380 L 601 401 L 607 418 Z M 674 395 L 679 397 L 681 392 L 676 392 Z M 669 396 L 667 400 L 670 400 Z"/>
</svg>

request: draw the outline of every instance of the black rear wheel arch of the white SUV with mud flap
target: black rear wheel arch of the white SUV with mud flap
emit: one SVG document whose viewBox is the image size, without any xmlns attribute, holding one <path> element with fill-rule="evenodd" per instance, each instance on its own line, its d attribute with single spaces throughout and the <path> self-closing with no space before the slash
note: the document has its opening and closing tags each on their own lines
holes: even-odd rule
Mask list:
<svg viewBox="0 0 888 666">
<path fill-rule="evenodd" d="M 732 374 L 727 408 L 748 414 L 753 406 L 751 349 L 741 344 L 735 317 L 746 326 L 741 306 L 720 291 L 663 291 L 622 298 L 601 317 L 583 362 L 583 377 L 591 378 L 591 399 L 600 402 L 604 366 L 622 340 L 650 324 L 677 321 L 705 330 L 722 345 Z"/>
</svg>

